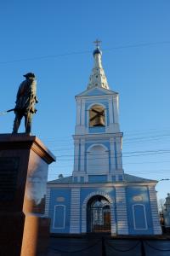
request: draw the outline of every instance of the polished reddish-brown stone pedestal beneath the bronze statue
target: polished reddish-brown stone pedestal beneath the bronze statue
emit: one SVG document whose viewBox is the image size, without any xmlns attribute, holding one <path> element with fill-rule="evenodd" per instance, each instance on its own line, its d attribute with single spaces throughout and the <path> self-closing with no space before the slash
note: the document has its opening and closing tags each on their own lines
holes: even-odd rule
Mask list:
<svg viewBox="0 0 170 256">
<path fill-rule="evenodd" d="M 35 136 L 0 134 L 0 255 L 36 256 L 45 250 L 46 183 L 54 160 Z"/>
</svg>

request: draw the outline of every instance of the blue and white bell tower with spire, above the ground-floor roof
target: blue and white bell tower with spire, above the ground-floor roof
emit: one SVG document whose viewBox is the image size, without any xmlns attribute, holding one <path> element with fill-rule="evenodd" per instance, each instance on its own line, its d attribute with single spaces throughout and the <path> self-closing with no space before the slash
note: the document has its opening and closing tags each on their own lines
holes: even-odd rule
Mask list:
<svg viewBox="0 0 170 256">
<path fill-rule="evenodd" d="M 100 42 L 96 40 L 94 43 L 94 68 L 88 88 L 76 96 L 73 181 L 120 182 L 123 181 L 123 170 L 118 93 L 111 90 L 107 82 Z"/>
</svg>

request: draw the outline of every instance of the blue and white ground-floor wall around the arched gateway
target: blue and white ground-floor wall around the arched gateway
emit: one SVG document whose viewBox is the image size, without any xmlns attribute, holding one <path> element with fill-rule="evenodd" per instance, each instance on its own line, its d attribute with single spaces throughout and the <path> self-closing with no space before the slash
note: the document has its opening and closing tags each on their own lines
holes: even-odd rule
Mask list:
<svg viewBox="0 0 170 256">
<path fill-rule="evenodd" d="M 81 234 L 87 232 L 87 206 L 94 195 L 102 195 L 111 207 L 112 235 L 161 234 L 157 208 L 150 202 L 154 186 L 70 184 L 69 189 L 51 185 L 48 217 L 52 233 Z M 150 194 L 150 191 L 152 195 Z"/>
</svg>

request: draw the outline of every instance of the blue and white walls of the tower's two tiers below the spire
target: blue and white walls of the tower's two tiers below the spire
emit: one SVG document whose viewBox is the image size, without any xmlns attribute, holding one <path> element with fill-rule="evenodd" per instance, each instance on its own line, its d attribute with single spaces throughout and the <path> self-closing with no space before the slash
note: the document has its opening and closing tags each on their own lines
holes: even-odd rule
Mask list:
<svg viewBox="0 0 170 256">
<path fill-rule="evenodd" d="M 122 133 L 118 123 L 118 94 L 111 90 L 88 90 L 76 97 L 77 124 L 74 136 L 73 181 L 123 180 Z M 94 105 L 105 109 L 105 126 L 90 127 L 89 111 Z M 91 177 L 92 176 L 92 177 Z"/>
</svg>

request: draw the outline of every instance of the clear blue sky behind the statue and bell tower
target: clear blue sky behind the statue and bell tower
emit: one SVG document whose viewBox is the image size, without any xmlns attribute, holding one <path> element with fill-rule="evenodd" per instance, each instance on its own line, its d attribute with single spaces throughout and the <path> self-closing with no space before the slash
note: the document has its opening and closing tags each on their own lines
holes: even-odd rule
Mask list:
<svg viewBox="0 0 170 256">
<path fill-rule="evenodd" d="M 22 75 L 36 73 L 32 133 L 57 156 L 49 179 L 71 175 L 74 96 L 87 88 L 96 38 L 110 87 L 120 94 L 125 172 L 170 178 L 169 12 L 169 0 L 1 1 L 0 111 L 14 108 Z M 11 132 L 13 120 L 14 113 L 1 116 L 0 132 Z M 169 187 L 156 186 L 160 198 Z"/>
</svg>

